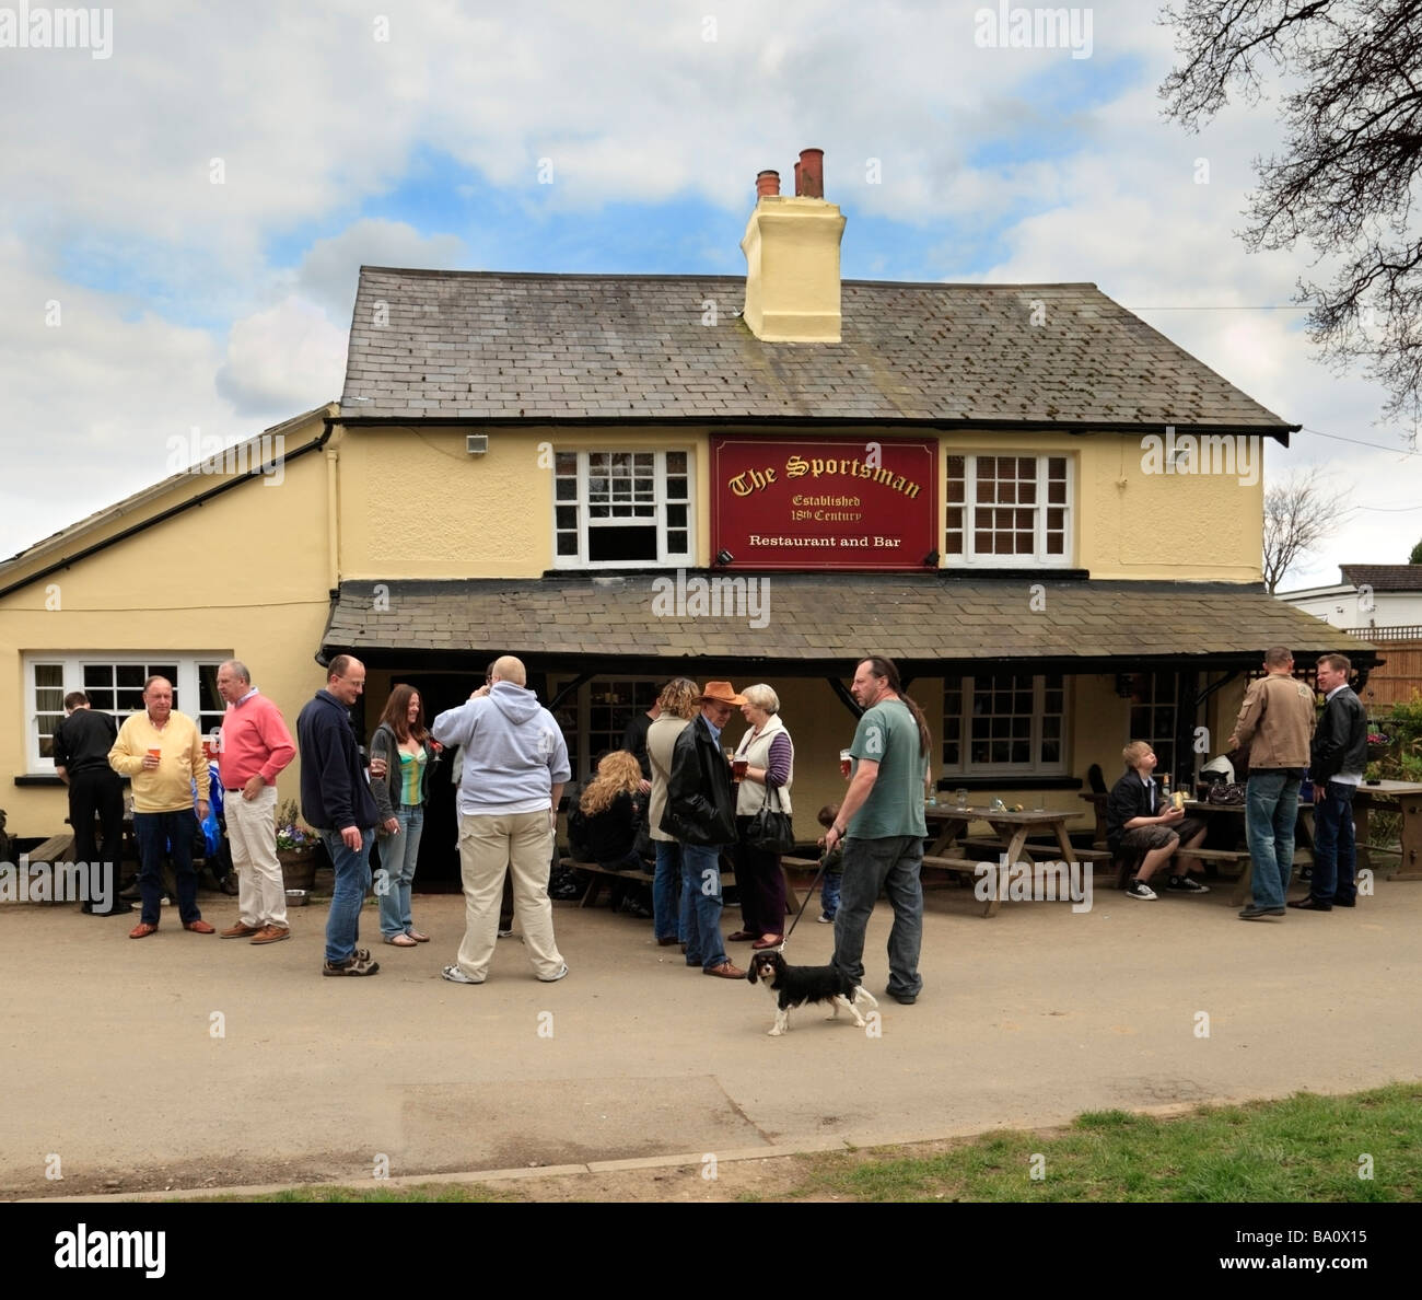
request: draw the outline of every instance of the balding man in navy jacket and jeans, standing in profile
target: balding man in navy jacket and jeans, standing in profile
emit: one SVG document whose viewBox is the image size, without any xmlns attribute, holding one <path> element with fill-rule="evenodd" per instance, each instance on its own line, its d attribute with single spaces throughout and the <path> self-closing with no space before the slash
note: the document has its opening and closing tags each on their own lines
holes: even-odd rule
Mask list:
<svg viewBox="0 0 1422 1300">
<path fill-rule="evenodd" d="M 336 889 L 326 919 L 326 966 L 321 974 L 375 974 L 380 963 L 357 947 L 360 909 L 370 889 L 370 845 L 380 814 L 365 781 L 351 705 L 365 690 L 365 666 L 337 654 L 317 691 L 296 720 L 301 750 L 301 816 L 320 832 L 336 868 Z M 384 777 L 384 772 L 375 775 Z"/>
</svg>

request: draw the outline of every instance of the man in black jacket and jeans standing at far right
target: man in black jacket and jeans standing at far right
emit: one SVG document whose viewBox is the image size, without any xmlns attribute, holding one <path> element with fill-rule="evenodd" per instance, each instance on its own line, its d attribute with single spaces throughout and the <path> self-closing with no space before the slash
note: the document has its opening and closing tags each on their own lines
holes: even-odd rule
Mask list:
<svg viewBox="0 0 1422 1300">
<path fill-rule="evenodd" d="M 1352 664 L 1342 654 L 1324 654 L 1318 660 L 1318 690 L 1328 703 L 1308 754 L 1314 781 L 1314 879 L 1308 897 L 1288 905 L 1300 912 L 1352 907 L 1358 897 L 1352 796 L 1368 765 L 1368 717 L 1348 686 L 1351 671 Z"/>
</svg>

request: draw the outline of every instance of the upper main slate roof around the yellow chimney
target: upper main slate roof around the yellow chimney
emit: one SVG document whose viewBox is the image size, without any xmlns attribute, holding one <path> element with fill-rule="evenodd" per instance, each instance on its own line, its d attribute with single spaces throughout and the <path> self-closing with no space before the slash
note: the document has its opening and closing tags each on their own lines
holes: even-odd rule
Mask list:
<svg viewBox="0 0 1422 1300">
<path fill-rule="evenodd" d="M 845 280 L 838 344 L 761 343 L 744 299 L 741 276 L 364 266 L 341 418 L 1298 428 L 1095 284 Z"/>
</svg>

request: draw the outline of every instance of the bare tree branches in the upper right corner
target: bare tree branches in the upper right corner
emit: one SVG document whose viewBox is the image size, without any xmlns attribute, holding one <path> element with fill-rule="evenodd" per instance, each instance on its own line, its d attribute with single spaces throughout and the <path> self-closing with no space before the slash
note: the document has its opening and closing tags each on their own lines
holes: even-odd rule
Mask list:
<svg viewBox="0 0 1422 1300">
<path fill-rule="evenodd" d="M 1362 364 L 1389 418 L 1422 414 L 1422 0 L 1186 0 L 1167 7 L 1179 64 L 1160 87 L 1190 131 L 1273 74 L 1283 154 L 1254 161 L 1250 250 L 1300 239 L 1332 280 L 1300 280 L 1308 333 L 1335 368 Z"/>
</svg>

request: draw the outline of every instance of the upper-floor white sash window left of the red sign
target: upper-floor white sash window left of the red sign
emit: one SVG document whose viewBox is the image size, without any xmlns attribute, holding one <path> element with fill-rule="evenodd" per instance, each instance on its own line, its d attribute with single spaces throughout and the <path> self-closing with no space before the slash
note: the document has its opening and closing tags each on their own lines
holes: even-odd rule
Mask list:
<svg viewBox="0 0 1422 1300">
<path fill-rule="evenodd" d="M 553 462 L 553 565 L 690 565 L 693 499 L 690 452 L 560 451 Z"/>
</svg>

